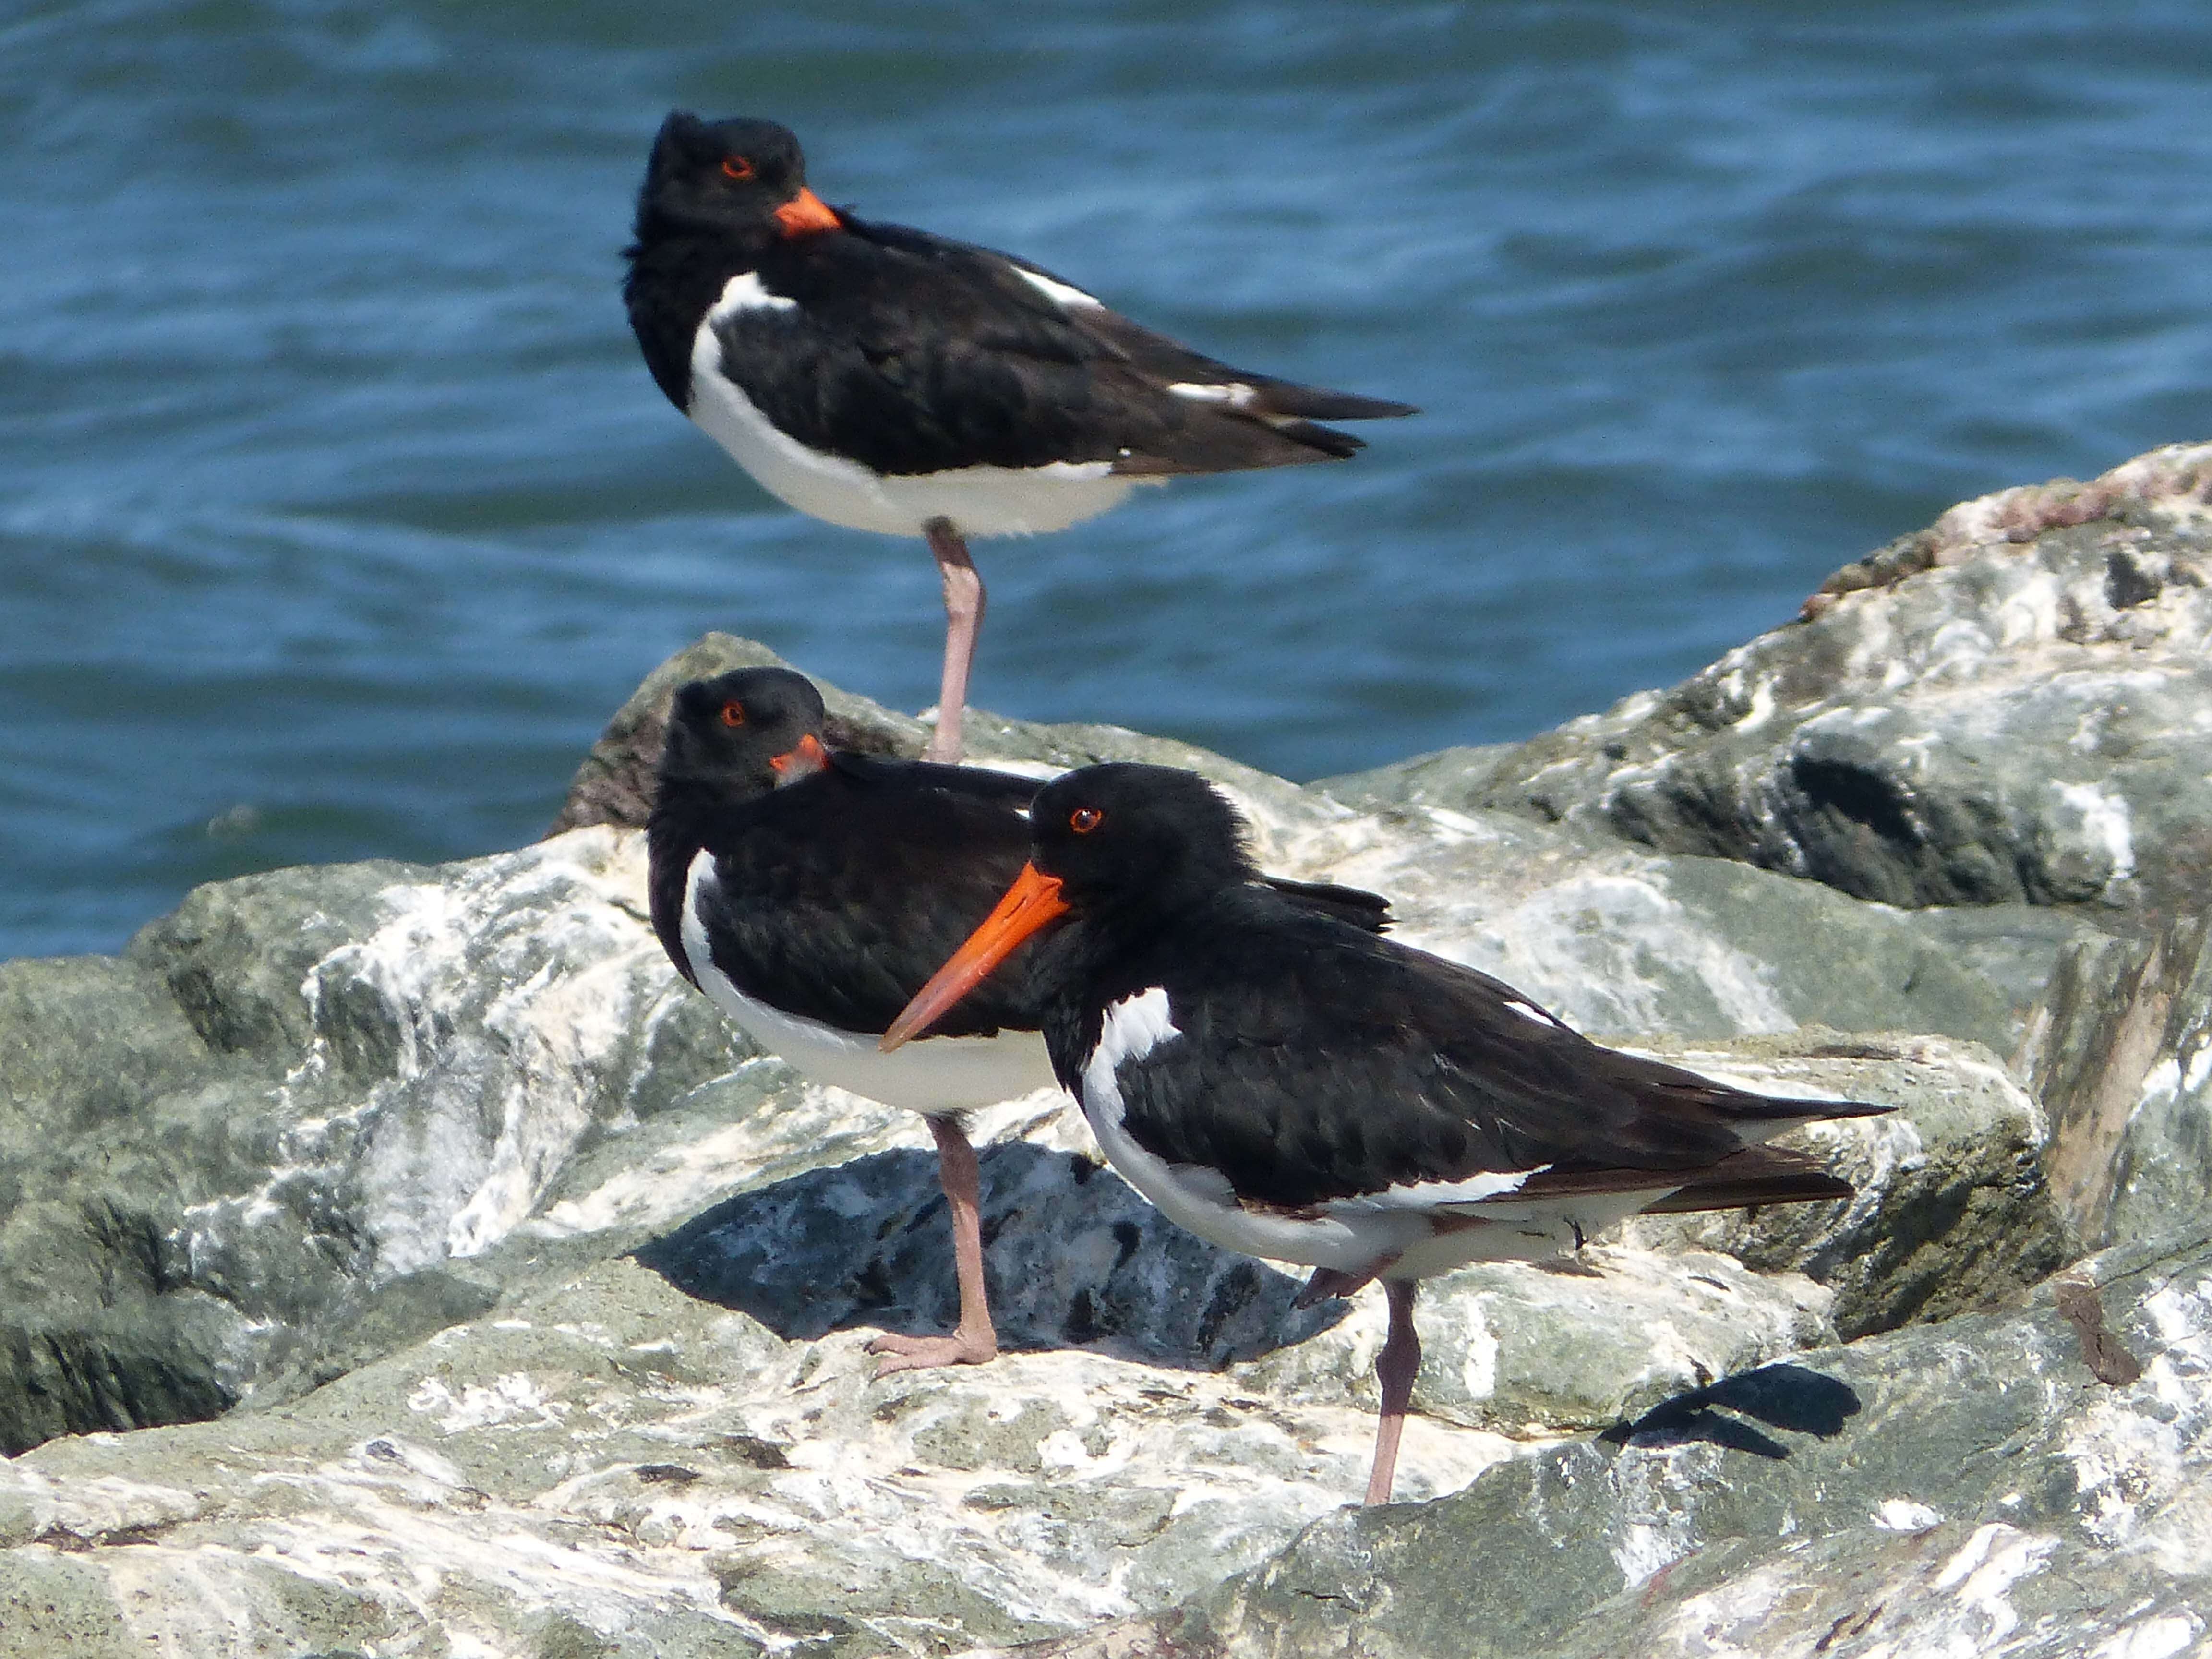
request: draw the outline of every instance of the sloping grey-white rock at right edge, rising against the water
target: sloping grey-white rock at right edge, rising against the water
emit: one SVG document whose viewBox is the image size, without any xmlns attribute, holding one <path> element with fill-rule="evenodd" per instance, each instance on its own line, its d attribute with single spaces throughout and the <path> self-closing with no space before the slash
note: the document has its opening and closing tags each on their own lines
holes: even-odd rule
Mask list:
<svg viewBox="0 0 2212 1659">
<path fill-rule="evenodd" d="M 1498 807 L 1889 905 L 2197 909 L 2208 480 L 2212 445 L 2177 445 L 1966 502 L 1672 690 L 1334 792 Z"/>
</svg>

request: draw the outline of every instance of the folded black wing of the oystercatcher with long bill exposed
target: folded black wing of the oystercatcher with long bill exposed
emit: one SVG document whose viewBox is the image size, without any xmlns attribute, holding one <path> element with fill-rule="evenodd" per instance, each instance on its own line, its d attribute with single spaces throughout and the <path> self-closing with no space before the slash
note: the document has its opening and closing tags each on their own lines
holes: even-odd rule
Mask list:
<svg viewBox="0 0 2212 1659">
<path fill-rule="evenodd" d="M 1732 1170 L 1750 1139 L 1885 1110 L 1750 1095 L 1604 1048 L 1500 980 L 1248 891 L 1128 962 L 1126 989 L 1102 998 L 1168 991 L 1181 1037 L 1119 1066 L 1124 1121 L 1170 1164 L 1219 1168 L 1239 1197 L 1296 1208 L 1540 1168 L 1517 1197 L 1659 1186 L 1652 1175 L 1719 1190 L 1732 1172 L 1792 1175 Z M 1095 1040 L 1099 1013 L 1088 1020 Z"/>
</svg>

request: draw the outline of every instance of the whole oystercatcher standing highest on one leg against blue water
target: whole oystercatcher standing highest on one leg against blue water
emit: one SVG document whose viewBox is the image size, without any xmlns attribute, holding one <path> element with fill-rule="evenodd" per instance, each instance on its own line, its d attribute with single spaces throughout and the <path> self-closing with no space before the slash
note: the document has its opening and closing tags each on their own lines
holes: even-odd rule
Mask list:
<svg viewBox="0 0 2212 1659">
<path fill-rule="evenodd" d="M 933 761 L 960 759 L 982 626 L 969 535 L 1066 529 L 1177 473 L 1343 460 L 1360 440 L 1316 420 L 1413 414 L 1234 369 L 1026 259 L 830 208 L 774 122 L 675 111 L 626 257 L 630 327 L 677 409 L 790 507 L 929 542 Z"/>
</svg>

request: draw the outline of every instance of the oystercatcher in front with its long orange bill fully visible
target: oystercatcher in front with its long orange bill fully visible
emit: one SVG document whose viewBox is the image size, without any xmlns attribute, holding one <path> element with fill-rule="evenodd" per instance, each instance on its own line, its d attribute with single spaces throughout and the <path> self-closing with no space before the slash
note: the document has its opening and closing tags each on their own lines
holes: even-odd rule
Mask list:
<svg viewBox="0 0 2212 1659">
<path fill-rule="evenodd" d="M 1820 1117 L 1577 1035 L 1509 984 L 1283 905 L 1237 810 L 1157 765 L 1068 772 L 1031 863 L 898 1015 L 898 1048 L 1035 929 L 1044 1042 L 1113 1166 L 1201 1239 L 1316 1267 L 1301 1301 L 1380 1279 L 1389 1338 L 1367 1502 L 1389 1500 L 1420 1340 L 1413 1281 L 1537 1259 L 1639 1210 L 1847 1199 L 1759 1146 Z"/>
</svg>

